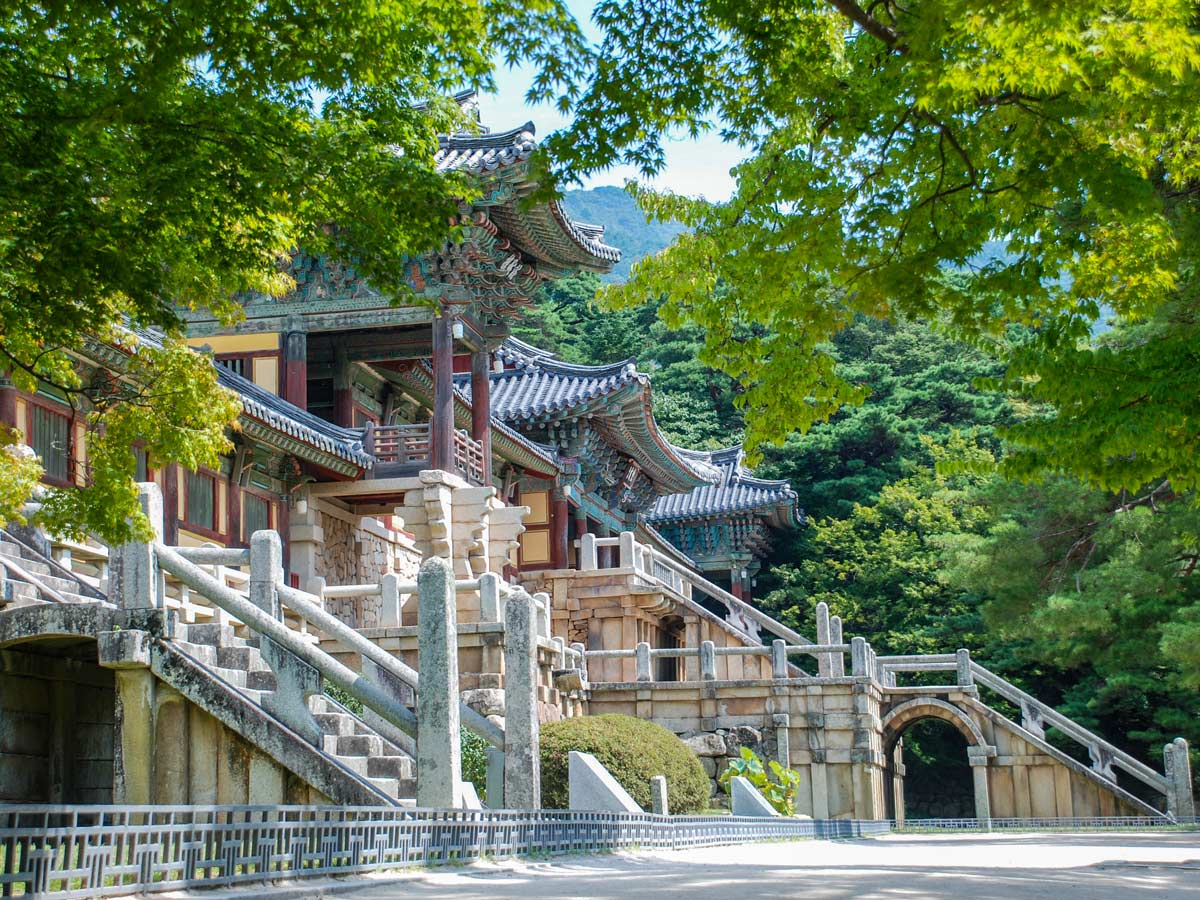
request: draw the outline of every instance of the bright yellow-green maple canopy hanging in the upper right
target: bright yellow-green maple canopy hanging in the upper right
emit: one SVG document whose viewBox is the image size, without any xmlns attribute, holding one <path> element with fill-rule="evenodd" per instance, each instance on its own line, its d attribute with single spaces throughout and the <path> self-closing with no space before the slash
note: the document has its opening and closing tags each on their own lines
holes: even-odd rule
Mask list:
<svg viewBox="0 0 1200 900">
<path fill-rule="evenodd" d="M 706 330 L 751 445 L 862 398 L 826 350 L 856 316 L 978 342 L 1022 323 L 1037 337 L 1004 384 L 1056 415 L 1010 431 L 1031 451 L 1012 470 L 1200 482 L 1195 391 L 1169 392 L 1195 362 L 1193 2 L 602 0 L 594 18 L 563 172 L 652 174 L 670 134 L 714 127 L 749 151 L 727 203 L 638 192 L 692 230 L 607 296 L 666 296 L 668 324 Z M 1087 342 L 1102 314 L 1168 305 L 1144 353 Z"/>
</svg>

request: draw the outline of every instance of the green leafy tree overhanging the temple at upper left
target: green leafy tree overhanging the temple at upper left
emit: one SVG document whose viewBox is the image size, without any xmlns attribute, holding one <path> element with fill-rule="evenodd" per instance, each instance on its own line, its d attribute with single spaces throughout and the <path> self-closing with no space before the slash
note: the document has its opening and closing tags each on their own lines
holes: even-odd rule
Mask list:
<svg viewBox="0 0 1200 900">
<path fill-rule="evenodd" d="M 55 526 L 125 536 L 131 433 L 158 466 L 223 449 L 235 404 L 181 349 L 178 307 L 233 318 L 241 293 L 284 293 L 295 247 L 403 296 L 408 254 L 473 193 L 433 167 L 438 133 L 469 125 L 451 92 L 490 86 L 496 58 L 554 82 L 583 56 L 560 0 L 8 5 L 0 366 L 55 385 L 92 428 L 92 487 L 52 492 Z M 162 349 L 139 349 L 128 383 L 88 383 L 88 336 L 128 344 L 130 322 L 163 328 Z M 0 499 L 14 460 L 0 454 Z"/>
</svg>

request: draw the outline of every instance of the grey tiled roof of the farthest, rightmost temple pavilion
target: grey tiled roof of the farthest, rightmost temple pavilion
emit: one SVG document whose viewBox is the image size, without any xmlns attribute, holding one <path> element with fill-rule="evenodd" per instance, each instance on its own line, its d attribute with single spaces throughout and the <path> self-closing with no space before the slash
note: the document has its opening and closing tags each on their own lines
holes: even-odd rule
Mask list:
<svg viewBox="0 0 1200 900">
<path fill-rule="evenodd" d="M 778 517 L 780 526 L 796 523 L 796 492 L 787 481 L 755 478 L 743 464 L 742 448 L 702 452 L 679 449 L 680 455 L 701 457 L 713 466 L 720 478 L 686 493 L 674 493 L 655 500 L 647 520 L 655 524 L 689 518 L 730 515 L 761 510 Z"/>
</svg>

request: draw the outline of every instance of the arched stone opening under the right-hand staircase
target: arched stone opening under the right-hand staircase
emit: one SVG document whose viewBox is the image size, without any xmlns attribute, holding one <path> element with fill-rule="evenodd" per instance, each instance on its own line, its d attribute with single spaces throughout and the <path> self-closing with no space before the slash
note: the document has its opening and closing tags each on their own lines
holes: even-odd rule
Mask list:
<svg viewBox="0 0 1200 900">
<path fill-rule="evenodd" d="M 883 719 L 887 816 L 988 820 L 986 762 L 979 726 L 943 700 L 919 697 Z"/>
</svg>

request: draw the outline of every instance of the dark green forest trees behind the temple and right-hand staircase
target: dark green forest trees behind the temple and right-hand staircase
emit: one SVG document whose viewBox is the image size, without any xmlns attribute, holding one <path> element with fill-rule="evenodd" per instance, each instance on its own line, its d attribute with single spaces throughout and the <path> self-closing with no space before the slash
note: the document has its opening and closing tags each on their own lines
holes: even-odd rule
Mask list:
<svg viewBox="0 0 1200 900">
<path fill-rule="evenodd" d="M 551 286 L 517 334 L 577 362 L 635 358 L 672 440 L 737 443 L 737 386 L 701 361 L 698 329 L 672 331 L 654 304 L 601 311 L 600 287 L 590 275 Z M 1124 326 L 1102 340 L 1139 338 Z M 1004 426 L 1039 410 L 982 386 L 996 360 L 926 324 L 859 319 L 834 352 L 869 395 L 764 451 L 758 474 L 788 479 L 808 521 L 778 542 L 757 602 L 811 632 L 823 600 L 881 653 L 968 647 L 1156 764 L 1166 739 L 1200 739 L 1193 498 L 1165 481 L 1108 494 L 1066 476 L 1002 479 L 990 463 Z M 960 755 L 919 731 L 910 751 L 918 780 L 923 756 Z"/>
</svg>

